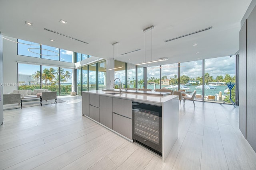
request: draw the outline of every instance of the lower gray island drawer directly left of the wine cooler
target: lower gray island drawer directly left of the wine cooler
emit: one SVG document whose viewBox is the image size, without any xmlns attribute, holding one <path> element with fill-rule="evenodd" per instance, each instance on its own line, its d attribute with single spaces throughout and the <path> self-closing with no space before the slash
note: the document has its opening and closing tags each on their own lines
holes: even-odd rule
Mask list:
<svg viewBox="0 0 256 170">
<path fill-rule="evenodd" d="M 132 119 L 113 113 L 113 130 L 132 139 Z"/>
</svg>

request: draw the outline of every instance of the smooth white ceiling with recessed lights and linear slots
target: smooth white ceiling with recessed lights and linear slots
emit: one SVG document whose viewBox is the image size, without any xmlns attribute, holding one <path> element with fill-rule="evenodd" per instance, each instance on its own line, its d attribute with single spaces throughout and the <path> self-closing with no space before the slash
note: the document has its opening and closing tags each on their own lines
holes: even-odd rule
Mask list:
<svg viewBox="0 0 256 170">
<path fill-rule="evenodd" d="M 0 0 L 2 35 L 137 64 L 224 57 L 239 49 L 240 21 L 251 0 Z M 67 21 L 66 25 L 60 19 Z M 25 24 L 33 23 L 33 26 Z M 152 31 L 142 31 L 154 25 Z M 164 42 L 207 27 L 212 29 Z M 80 39 L 82 43 L 44 28 Z M 152 33 L 152 41 L 151 41 Z M 146 37 L 146 45 L 145 45 Z M 54 39 L 54 42 L 49 41 Z M 151 59 L 152 42 L 152 59 Z M 198 44 L 193 46 L 193 44 Z M 129 51 L 141 49 L 127 55 Z M 196 54 L 199 52 L 199 54 Z M 114 49 L 116 58 L 116 49 Z M 148 66 L 148 65 L 146 65 Z"/>
</svg>

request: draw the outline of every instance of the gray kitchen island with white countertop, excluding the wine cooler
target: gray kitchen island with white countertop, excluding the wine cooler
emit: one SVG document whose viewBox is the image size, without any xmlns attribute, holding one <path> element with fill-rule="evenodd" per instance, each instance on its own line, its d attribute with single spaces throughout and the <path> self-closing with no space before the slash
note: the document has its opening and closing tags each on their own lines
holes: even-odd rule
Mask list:
<svg viewBox="0 0 256 170">
<path fill-rule="evenodd" d="M 153 92 L 156 93 L 157 92 Z M 159 93 L 159 92 L 158 92 Z M 174 95 L 150 95 L 92 90 L 82 92 L 82 115 L 133 142 L 132 102 L 162 108 L 160 123 L 162 160 L 166 159 L 178 139 L 179 100 Z"/>
</svg>

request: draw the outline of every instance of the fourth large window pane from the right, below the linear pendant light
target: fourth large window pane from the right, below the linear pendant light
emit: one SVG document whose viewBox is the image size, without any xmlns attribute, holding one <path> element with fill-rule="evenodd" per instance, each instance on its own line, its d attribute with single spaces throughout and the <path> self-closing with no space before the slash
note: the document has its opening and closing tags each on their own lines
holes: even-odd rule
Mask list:
<svg viewBox="0 0 256 170">
<path fill-rule="evenodd" d="M 160 66 L 147 67 L 147 88 L 160 88 Z"/>
</svg>

